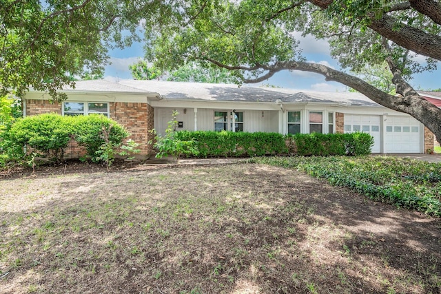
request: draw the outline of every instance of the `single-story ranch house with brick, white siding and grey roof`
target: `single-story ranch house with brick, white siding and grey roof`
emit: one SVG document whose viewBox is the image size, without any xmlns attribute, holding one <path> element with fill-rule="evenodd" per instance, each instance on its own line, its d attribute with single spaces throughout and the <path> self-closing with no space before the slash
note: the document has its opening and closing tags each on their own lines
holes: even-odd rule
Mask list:
<svg viewBox="0 0 441 294">
<path fill-rule="evenodd" d="M 367 132 L 373 153 L 425 153 L 433 150 L 433 134 L 407 114 L 382 107 L 360 93 L 311 92 L 237 85 L 122 80 L 118 83 L 77 81 L 63 90 L 68 100 L 49 102 L 45 92 L 30 91 L 25 116 L 104 114 L 124 125 L 148 155 L 150 130 L 164 134 L 172 112 L 179 114 L 178 130 L 232 132 L 335 133 Z M 428 94 L 426 94 L 428 93 Z M 440 103 L 435 92 L 422 92 Z M 72 146 L 72 156 L 79 150 Z"/>
</svg>

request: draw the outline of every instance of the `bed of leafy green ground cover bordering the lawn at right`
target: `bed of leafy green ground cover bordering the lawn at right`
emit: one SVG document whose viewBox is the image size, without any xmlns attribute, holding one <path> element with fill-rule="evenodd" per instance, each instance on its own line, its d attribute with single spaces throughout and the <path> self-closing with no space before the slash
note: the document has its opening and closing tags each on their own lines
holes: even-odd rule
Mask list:
<svg viewBox="0 0 441 294">
<path fill-rule="evenodd" d="M 326 178 L 398 207 L 441 216 L 441 164 L 387 156 L 253 158 Z"/>
</svg>

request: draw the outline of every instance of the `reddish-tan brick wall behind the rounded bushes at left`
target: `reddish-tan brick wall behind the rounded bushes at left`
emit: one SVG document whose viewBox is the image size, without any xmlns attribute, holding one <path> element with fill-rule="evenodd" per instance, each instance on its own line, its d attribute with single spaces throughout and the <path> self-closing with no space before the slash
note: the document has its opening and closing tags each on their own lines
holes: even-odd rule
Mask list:
<svg viewBox="0 0 441 294">
<path fill-rule="evenodd" d="M 110 118 L 123 125 L 132 139 L 139 143 L 141 152 L 139 155 L 145 157 L 150 154 L 152 147 L 147 144 L 150 140 L 149 130 L 154 128 L 154 108 L 147 103 L 109 103 Z M 26 100 L 26 116 L 37 114 L 57 113 L 61 114 L 61 104 L 51 104 L 47 100 Z M 71 141 L 65 150 L 66 157 L 79 157 L 85 154 L 84 149 L 76 142 Z"/>
</svg>

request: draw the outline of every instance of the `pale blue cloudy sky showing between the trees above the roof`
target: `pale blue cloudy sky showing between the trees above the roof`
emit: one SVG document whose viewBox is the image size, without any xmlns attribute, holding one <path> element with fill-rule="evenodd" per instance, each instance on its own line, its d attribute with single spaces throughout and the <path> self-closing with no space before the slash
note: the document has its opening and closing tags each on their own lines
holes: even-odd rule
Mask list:
<svg viewBox="0 0 441 294">
<path fill-rule="evenodd" d="M 329 45 L 325 40 L 317 40 L 314 36 L 297 36 L 300 40 L 300 48 L 302 48 L 307 61 L 322 63 L 329 67 L 339 69 L 338 62 L 331 58 L 329 54 Z M 129 65 L 136 63 L 144 56 L 143 44 L 134 43 L 130 48 L 124 50 L 115 49 L 109 52 L 111 65 L 105 67 L 104 77 L 106 80 L 118 81 L 119 79 L 132 78 Z M 424 72 L 416 74 L 410 81 L 410 84 L 416 90 L 433 90 L 441 88 L 441 65 L 435 72 Z M 287 70 L 274 74 L 269 80 L 260 83 L 269 84 L 277 87 L 297 90 L 311 90 L 320 92 L 347 92 L 347 87 L 340 83 L 325 81 L 320 74 L 311 72 L 300 72 Z M 260 84 L 254 84 L 258 86 Z M 252 85 L 253 86 L 253 85 Z"/>
</svg>

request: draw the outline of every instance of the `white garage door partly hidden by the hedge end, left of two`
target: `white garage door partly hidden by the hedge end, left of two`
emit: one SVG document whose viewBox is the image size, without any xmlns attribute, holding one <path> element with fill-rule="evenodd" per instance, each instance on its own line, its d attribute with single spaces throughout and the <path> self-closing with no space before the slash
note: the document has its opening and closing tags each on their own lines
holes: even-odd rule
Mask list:
<svg viewBox="0 0 441 294">
<path fill-rule="evenodd" d="M 345 133 L 365 132 L 373 136 L 372 153 L 380 153 L 380 116 L 345 114 Z"/>
</svg>

